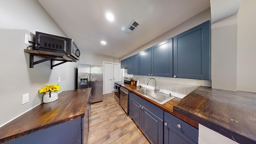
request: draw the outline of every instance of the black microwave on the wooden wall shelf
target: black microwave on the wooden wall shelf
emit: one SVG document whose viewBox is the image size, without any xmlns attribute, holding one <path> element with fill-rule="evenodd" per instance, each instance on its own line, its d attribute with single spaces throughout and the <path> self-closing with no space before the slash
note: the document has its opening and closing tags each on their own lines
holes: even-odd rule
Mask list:
<svg viewBox="0 0 256 144">
<path fill-rule="evenodd" d="M 75 60 L 79 60 L 80 50 L 71 38 L 36 32 L 35 41 L 38 46 L 34 46 L 34 50 L 63 53 Z"/>
</svg>

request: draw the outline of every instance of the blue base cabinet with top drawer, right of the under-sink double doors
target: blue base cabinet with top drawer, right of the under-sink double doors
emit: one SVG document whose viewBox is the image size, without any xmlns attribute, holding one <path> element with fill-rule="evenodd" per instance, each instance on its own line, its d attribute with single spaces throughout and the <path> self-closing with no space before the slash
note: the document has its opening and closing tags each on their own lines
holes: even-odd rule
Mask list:
<svg viewBox="0 0 256 144">
<path fill-rule="evenodd" d="M 198 144 L 198 129 L 164 112 L 164 144 Z"/>
</svg>

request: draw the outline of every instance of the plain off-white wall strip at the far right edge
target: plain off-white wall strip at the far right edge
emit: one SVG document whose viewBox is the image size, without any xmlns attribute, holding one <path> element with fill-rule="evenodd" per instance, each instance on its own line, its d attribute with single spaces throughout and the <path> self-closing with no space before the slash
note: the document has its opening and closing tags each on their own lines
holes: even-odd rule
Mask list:
<svg viewBox="0 0 256 144">
<path fill-rule="evenodd" d="M 256 1 L 243 0 L 238 11 L 237 90 L 256 92 Z"/>
</svg>

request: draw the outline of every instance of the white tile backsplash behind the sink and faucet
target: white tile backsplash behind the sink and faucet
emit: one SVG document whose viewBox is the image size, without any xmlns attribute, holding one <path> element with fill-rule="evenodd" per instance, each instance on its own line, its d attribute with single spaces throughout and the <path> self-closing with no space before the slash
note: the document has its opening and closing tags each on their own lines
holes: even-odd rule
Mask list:
<svg viewBox="0 0 256 144">
<path fill-rule="evenodd" d="M 140 79 L 140 83 L 143 87 L 150 88 L 154 90 L 155 82 L 154 80 L 150 80 L 148 82 L 148 86 L 146 82 L 149 78 L 156 79 L 156 87 L 160 87 L 160 92 L 165 94 L 171 93 L 172 96 L 178 98 L 184 98 L 186 94 L 184 94 L 184 88 L 189 88 L 190 92 L 198 88 L 198 86 L 207 86 L 212 87 L 211 80 L 194 80 L 194 79 L 185 79 L 185 78 L 165 78 L 158 76 L 138 76 L 138 75 L 130 75 L 124 74 L 124 76 L 133 77 L 134 80 Z"/>
</svg>

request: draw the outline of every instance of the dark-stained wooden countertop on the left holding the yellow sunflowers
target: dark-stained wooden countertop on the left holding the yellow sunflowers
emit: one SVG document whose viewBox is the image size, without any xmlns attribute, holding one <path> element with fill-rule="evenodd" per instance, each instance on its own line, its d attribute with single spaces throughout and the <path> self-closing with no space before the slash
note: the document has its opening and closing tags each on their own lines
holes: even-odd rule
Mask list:
<svg viewBox="0 0 256 144">
<path fill-rule="evenodd" d="M 0 143 L 84 116 L 91 88 L 68 90 L 58 100 L 42 103 L 0 128 Z"/>
</svg>

